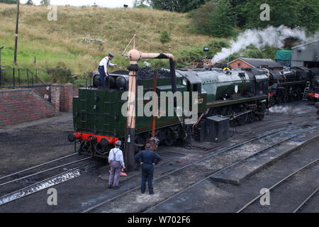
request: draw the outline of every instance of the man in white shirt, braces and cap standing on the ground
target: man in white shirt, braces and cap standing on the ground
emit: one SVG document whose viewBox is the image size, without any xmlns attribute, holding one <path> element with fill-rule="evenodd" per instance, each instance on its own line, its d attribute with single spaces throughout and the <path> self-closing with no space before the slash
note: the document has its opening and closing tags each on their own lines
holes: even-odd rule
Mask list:
<svg viewBox="0 0 319 227">
<path fill-rule="evenodd" d="M 108 154 L 108 163 L 111 166 L 111 173 L 108 179 L 108 188 L 112 187 L 114 189 L 118 189 L 120 186 L 118 182 L 120 180 L 121 175 L 121 167 L 125 170 L 124 160 L 123 160 L 123 153 L 120 149 L 121 141 L 116 141 L 116 147 L 110 150 Z"/>
</svg>

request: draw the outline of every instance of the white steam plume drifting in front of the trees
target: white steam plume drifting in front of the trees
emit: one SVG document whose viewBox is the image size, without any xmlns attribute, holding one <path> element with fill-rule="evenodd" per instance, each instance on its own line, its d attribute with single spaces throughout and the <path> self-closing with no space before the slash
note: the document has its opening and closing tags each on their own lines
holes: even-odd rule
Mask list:
<svg viewBox="0 0 319 227">
<path fill-rule="evenodd" d="M 229 55 L 235 52 L 239 52 L 247 48 L 249 45 L 254 45 L 258 49 L 265 48 L 267 46 L 272 46 L 274 48 L 283 48 L 284 40 L 286 38 L 298 38 L 301 43 L 307 42 L 310 39 L 306 37 L 306 31 L 303 28 L 288 28 L 286 26 L 279 26 L 279 28 L 274 28 L 269 26 L 260 29 L 247 29 L 244 33 L 240 33 L 237 37 L 237 41 L 230 41 L 230 48 L 223 48 L 218 52 L 211 62 L 215 64 L 224 60 Z"/>
</svg>

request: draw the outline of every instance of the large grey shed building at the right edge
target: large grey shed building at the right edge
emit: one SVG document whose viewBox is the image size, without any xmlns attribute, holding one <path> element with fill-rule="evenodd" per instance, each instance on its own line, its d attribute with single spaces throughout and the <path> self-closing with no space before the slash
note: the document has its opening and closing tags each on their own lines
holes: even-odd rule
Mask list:
<svg viewBox="0 0 319 227">
<path fill-rule="evenodd" d="M 319 40 L 291 48 L 291 67 L 319 67 Z"/>
</svg>

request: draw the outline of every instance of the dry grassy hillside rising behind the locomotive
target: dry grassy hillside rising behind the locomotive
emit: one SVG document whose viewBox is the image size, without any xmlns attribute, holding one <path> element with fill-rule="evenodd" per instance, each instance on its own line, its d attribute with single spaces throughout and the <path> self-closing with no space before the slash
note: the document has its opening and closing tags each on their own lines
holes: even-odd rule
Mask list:
<svg viewBox="0 0 319 227">
<path fill-rule="evenodd" d="M 176 57 L 181 57 L 182 52 L 190 47 L 203 48 L 213 40 L 208 35 L 189 33 L 189 19 L 183 13 L 57 6 L 57 21 L 48 21 L 48 12 L 46 6 L 21 6 L 18 67 L 60 66 L 70 68 L 73 74 L 84 75 L 96 70 L 107 52 L 113 52 L 116 55 L 113 62 L 125 68 L 128 60 L 120 55 L 133 34 L 165 50 L 171 45 Z M 5 46 L 1 65 L 6 67 L 13 67 L 15 26 L 16 7 L 0 4 L 0 46 Z M 164 30 L 172 37 L 165 46 L 159 42 L 159 35 Z M 136 45 L 140 51 L 160 51 L 140 39 Z M 36 65 L 33 64 L 34 57 L 37 57 Z"/>
</svg>

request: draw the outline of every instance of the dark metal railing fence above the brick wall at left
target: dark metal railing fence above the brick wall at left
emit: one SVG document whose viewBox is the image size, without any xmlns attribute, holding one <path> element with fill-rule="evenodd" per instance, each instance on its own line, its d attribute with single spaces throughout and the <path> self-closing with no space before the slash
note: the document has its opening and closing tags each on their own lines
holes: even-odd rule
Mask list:
<svg viewBox="0 0 319 227">
<path fill-rule="evenodd" d="M 0 68 L 0 87 L 33 87 L 35 84 L 50 84 L 52 72 L 49 69 Z"/>
</svg>

